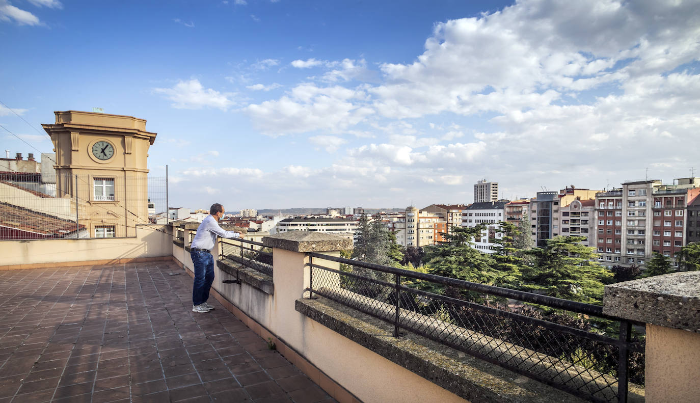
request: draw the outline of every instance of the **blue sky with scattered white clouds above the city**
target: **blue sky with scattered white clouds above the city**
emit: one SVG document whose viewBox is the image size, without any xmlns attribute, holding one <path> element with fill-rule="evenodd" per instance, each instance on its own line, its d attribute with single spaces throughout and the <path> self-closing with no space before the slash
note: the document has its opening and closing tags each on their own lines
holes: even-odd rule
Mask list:
<svg viewBox="0 0 700 403">
<path fill-rule="evenodd" d="M 700 1 L 0 0 L 0 124 L 148 121 L 171 204 L 422 207 L 700 172 Z M 11 155 L 36 152 L 0 130 Z"/>
</svg>

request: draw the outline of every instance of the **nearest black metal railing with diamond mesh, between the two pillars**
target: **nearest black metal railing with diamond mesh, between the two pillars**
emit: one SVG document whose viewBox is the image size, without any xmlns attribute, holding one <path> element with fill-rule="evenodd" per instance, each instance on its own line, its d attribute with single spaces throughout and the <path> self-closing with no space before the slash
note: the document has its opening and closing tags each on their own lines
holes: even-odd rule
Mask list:
<svg viewBox="0 0 700 403">
<path fill-rule="evenodd" d="M 603 315 L 601 306 L 307 255 L 309 297 L 384 320 L 395 337 L 408 330 L 591 402 L 626 402 L 629 379 L 643 384 L 643 344 L 631 341 L 631 322 Z M 319 264 L 323 260 L 339 262 L 340 269 Z M 617 337 L 596 332 L 602 324 L 617 328 Z"/>
</svg>

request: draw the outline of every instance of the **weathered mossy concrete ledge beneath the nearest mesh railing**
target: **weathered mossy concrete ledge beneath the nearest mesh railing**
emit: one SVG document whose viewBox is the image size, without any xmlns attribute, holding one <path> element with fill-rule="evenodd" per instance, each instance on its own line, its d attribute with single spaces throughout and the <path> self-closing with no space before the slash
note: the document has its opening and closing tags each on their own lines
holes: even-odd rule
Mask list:
<svg viewBox="0 0 700 403">
<path fill-rule="evenodd" d="M 472 403 L 585 402 L 416 334 L 397 339 L 387 323 L 330 299 L 297 299 L 295 309 Z"/>
</svg>

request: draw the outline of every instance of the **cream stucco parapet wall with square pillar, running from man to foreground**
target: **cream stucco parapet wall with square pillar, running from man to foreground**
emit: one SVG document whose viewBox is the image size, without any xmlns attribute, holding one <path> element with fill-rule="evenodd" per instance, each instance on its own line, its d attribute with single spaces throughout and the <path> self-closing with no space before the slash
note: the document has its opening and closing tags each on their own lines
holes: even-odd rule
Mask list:
<svg viewBox="0 0 700 403">
<path fill-rule="evenodd" d="M 216 255 L 218 250 L 215 248 L 212 253 Z M 337 256 L 339 252 L 328 254 Z M 192 271 L 192 260 L 189 253 L 186 255 L 181 262 Z M 365 403 L 465 402 L 454 393 L 297 312 L 294 302 L 304 296 L 303 290 L 309 284 L 309 270 L 304 268 L 308 257 L 304 253 L 274 248 L 273 260 L 274 295 L 246 283 L 222 283 L 230 275 L 216 265 L 213 288 Z M 327 267 L 331 264 L 324 262 Z M 406 385 L 411 387 L 406 388 Z"/>
</svg>

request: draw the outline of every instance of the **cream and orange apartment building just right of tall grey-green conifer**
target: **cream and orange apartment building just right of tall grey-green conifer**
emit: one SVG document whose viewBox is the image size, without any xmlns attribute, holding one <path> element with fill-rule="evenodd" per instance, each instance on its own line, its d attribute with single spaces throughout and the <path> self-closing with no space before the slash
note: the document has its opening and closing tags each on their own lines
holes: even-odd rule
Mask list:
<svg viewBox="0 0 700 403">
<path fill-rule="evenodd" d="M 387 227 L 395 233 L 396 243 L 421 247 L 445 240 L 442 234 L 447 232 L 447 220 L 438 213 L 408 206 L 405 213 L 391 219 Z"/>
</svg>

